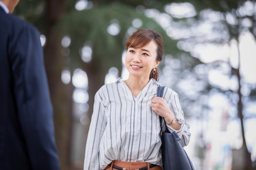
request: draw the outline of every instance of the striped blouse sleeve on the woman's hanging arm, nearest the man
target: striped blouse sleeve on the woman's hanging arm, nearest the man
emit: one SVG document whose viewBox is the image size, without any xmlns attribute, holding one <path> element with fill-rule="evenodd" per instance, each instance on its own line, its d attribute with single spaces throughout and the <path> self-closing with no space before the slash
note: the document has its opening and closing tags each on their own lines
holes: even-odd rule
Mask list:
<svg viewBox="0 0 256 170">
<path fill-rule="evenodd" d="M 100 91 L 100 90 L 99 90 Z M 106 116 L 99 91 L 94 98 L 94 107 L 86 142 L 84 170 L 100 170 L 100 141 L 106 128 Z"/>
</svg>

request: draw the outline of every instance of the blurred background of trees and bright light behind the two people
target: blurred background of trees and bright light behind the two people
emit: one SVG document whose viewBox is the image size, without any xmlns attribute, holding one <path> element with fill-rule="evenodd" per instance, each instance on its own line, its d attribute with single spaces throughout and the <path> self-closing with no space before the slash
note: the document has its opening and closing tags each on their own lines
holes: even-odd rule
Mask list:
<svg viewBox="0 0 256 170">
<path fill-rule="evenodd" d="M 126 39 L 164 39 L 160 84 L 178 92 L 196 170 L 256 169 L 255 0 L 21 0 L 40 31 L 62 170 L 82 170 L 94 94 L 124 67 Z"/>
</svg>

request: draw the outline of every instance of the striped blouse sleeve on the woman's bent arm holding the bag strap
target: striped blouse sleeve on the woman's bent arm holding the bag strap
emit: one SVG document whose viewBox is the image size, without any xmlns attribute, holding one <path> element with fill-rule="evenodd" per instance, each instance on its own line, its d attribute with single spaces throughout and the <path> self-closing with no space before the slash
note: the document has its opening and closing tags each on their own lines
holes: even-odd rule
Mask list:
<svg viewBox="0 0 256 170">
<path fill-rule="evenodd" d="M 172 94 L 170 101 L 168 101 L 168 105 L 170 106 L 171 111 L 174 113 L 176 119 L 181 125 L 180 130 L 175 130 L 170 126 L 167 126 L 170 132 L 176 132 L 180 137 L 180 143 L 182 147 L 187 146 L 190 140 L 190 125 L 184 119 L 184 113 L 181 109 L 179 96 L 176 92 L 172 90 Z"/>
</svg>

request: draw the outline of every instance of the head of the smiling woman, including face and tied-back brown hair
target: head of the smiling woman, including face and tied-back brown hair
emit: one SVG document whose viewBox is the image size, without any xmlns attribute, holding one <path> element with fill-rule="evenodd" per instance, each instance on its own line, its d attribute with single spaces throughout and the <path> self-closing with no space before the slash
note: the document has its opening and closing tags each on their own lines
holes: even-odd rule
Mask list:
<svg viewBox="0 0 256 170">
<path fill-rule="evenodd" d="M 157 70 L 156 66 L 158 66 L 162 60 L 164 50 L 162 37 L 154 31 L 145 31 L 143 29 L 139 29 L 128 38 L 126 42 L 126 49 L 127 53 L 125 61 L 128 71 L 130 66 L 132 66 L 134 69 L 136 66 L 137 68 L 139 66 L 132 63 L 129 64 L 129 62 L 146 64 L 143 67 L 151 64 L 148 68 L 151 68 L 150 70 L 146 71 L 146 68 L 142 69 L 144 70 L 146 76 L 145 79 L 148 80 L 149 77 L 149 79 L 154 78 L 156 81 L 158 81 L 159 71 Z M 149 75 L 148 77 L 147 74 Z"/>
</svg>

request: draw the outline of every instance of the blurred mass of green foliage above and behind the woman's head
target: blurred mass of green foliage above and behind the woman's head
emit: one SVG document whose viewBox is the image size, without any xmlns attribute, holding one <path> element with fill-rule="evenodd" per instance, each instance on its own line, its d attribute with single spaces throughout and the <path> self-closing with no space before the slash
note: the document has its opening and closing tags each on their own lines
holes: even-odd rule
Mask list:
<svg viewBox="0 0 256 170">
<path fill-rule="evenodd" d="M 93 49 L 93 58 L 99 58 L 99 68 L 106 70 L 115 66 L 121 70 L 122 52 L 128 38 L 127 30 L 132 26 L 134 19 L 143 22 L 142 29 L 154 29 L 164 39 L 166 53 L 179 51 L 176 41 L 166 35 L 166 32 L 151 18 L 136 12 L 129 6 L 113 3 L 104 6 L 96 6 L 90 10 L 73 11 L 63 16 L 58 25 L 62 35 L 71 37 L 70 56 L 78 63 L 82 62 L 79 51 L 88 43 Z M 107 32 L 108 26 L 113 20 L 120 25 L 120 33 L 116 36 Z"/>
</svg>

